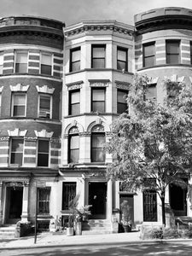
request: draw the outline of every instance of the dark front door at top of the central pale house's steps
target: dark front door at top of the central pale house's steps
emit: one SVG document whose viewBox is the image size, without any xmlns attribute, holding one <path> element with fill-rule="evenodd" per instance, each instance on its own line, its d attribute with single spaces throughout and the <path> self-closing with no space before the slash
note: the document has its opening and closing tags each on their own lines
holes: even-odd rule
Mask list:
<svg viewBox="0 0 192 256">
<path fill-rule="evenodd" d="M 89 183 L 91 218 L 106 218 L 107 183 Z"/>
</svg>

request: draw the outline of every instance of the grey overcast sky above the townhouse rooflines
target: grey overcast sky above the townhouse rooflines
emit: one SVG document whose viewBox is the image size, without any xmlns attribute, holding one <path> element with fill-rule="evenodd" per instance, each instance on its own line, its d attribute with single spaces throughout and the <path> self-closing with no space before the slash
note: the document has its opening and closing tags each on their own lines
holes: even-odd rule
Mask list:
<svg viewBox="0 0 192 256">
<path fill-rule="evenodd" d="M 192 0 L 0 0 L 0 16 L 38 15 L 67 26 L 81 20 L 113 19 L 133 25 L 134 15 L 166 6 L 192 9 Z"/>
</svg>

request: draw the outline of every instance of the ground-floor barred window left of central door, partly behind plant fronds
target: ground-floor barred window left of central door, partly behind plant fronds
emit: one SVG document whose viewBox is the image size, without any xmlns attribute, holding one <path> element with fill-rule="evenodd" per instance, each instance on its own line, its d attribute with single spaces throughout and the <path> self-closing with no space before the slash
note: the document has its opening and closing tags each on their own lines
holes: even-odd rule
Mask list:
<svg viewBox="0 0 192 256">
<path fill-rule="evenodd" d="M 62 210 L 68 210 L 69 202 L 76 195 L 76 183 L 62 183 Z"/>
</svg>

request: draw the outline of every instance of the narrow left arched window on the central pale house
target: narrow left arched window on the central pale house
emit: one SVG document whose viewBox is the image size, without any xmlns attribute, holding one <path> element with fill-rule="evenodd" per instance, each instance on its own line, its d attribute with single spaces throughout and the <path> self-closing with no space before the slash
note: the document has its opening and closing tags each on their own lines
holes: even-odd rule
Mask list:
<svg viewBox="0 0 192 256">
<path fill-rule="evenodd" d="M 77 126 L 69 130 L 68 162 L 79 162 L 79 129 Z"/>
</svg>

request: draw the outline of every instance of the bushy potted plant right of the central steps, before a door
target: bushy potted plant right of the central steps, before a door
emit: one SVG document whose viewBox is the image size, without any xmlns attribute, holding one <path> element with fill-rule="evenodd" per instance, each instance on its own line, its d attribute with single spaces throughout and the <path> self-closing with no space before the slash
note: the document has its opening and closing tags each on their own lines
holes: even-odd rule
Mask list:
<svg viewBox="0 0 192 256">
<path fill-rule="evenodd" d="M 123 225 L 125 232 L 131 232 L 131 207 L 129 206 L 129 203 L 127 200 L 124 200 L 120 204 L 120 210 L 122 214 L 121 224 Z"/>
</svg>

